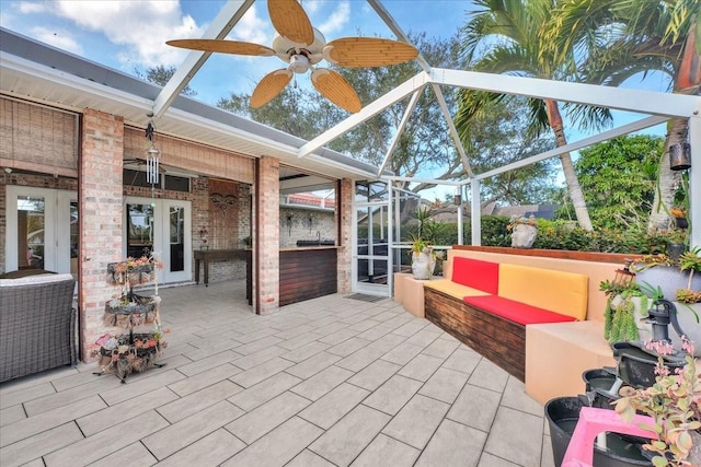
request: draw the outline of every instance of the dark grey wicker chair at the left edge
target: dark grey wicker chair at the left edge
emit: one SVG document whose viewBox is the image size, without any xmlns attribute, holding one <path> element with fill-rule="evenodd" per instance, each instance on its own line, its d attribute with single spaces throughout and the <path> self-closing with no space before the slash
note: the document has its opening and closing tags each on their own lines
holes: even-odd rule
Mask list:
<svg viewBox="0 0 701 467">
<path fill-rule="evenodd" d="M 76 365 L 71 275 L 0 279 L 0 382 Z"/>
</svg>

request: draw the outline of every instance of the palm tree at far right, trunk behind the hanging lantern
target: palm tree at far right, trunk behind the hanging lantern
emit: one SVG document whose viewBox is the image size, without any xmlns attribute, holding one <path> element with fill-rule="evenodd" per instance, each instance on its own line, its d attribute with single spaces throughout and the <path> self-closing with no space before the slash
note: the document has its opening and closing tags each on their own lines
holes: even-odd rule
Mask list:
<svg viewBox="0 0 701 467">
<path fill-rule="evenodd" d="M 544 37 L 553 49 L 576 49 L 585 81 L 620 85 L 652 71 L 670 91 L 697 94 L 701 84 L 701 2 L 698 0 L 581 0 L 562 2 Z M 566 32 L 566 34 L 561 34 Z M 576 66 L 576 63 L 571 63 Z M 669 148 L 687 138 L 688 120 L 667 125 L 648 232 L 669 227 L 680 175 L 669 168 Z"/>
</svg>

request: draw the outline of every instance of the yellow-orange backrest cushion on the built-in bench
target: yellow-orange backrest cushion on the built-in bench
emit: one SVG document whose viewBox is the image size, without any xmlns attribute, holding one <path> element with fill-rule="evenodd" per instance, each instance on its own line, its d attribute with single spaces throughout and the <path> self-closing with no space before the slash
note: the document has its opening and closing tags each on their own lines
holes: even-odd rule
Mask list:
<svg viewBox="0 0 701 467">
<path fill-rule="evenodd" d="M 589 278 L 584 275 L 499 265 L 499 296 L 576 319 L 587 316 L 588 287 Z"/>
</svg>

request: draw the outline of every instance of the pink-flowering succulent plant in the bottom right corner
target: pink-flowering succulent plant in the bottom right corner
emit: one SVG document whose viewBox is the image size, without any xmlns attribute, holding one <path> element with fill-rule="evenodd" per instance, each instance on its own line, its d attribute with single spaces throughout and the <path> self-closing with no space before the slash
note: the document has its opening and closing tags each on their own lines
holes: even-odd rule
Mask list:
<svg viewBox="0 0 701 467">
<path fill-rule="evenodd" d="M 624 386 L 614 402 L 616 411 L 624 421 L 632 421 L 636 412 L 652 418 L 641 428 L 652 434 L 643 447 L 653 454 L 655 467 L 701 465 L 701 378 L 697 375 L 693 346 L 685 340 L 687 364 L 676 374 L 669 374 L 658 359 L 657 377 L 651 387 L 635 389 Z M 673 347 L 656 342 L 658 354 L 670 354 Z"/>
</svg>

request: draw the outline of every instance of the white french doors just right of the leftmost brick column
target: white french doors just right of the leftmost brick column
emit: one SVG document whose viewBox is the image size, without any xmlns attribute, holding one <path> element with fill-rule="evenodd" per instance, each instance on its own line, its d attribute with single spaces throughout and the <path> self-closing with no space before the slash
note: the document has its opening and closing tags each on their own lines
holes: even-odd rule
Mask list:
<svg viewBox="0 0 701 467">
<path fill-rule="evenodd" d="M 189 201 L 126 197 L 124 256 L 151 253 L 163 262 L 160 283 L 192 280 L 192 208 Z"/>
</svg>

